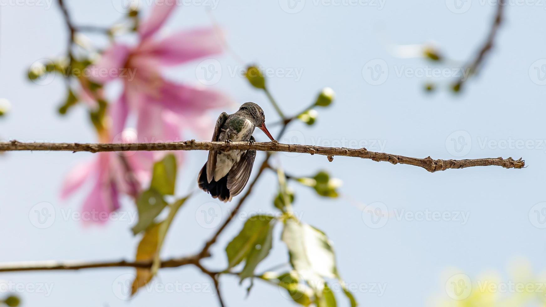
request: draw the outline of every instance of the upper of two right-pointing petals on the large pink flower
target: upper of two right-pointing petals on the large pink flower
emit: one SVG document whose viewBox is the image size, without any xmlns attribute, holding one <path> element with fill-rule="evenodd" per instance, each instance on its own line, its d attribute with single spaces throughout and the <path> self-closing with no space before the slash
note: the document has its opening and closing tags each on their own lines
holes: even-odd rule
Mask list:
<svg viewBox="0 0 546 307">
<path fill-rule="evenodd" d="M 222 52 L 221 38 L 214 28 L 180 31 L 161 40 L 147 40 L 139 55 L 157 58 L 163 65 L 181 64 Z"/>
</svg>

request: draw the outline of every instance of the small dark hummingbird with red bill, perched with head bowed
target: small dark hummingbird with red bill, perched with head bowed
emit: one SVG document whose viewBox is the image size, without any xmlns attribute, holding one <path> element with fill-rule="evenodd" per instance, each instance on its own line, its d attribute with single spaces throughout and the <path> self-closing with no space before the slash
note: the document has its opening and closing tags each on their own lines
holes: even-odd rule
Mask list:
<svg viewBox="0 0 546 307">
<path fill-rule="evenodd" d="M 233 114 L 220 114 L 212 141 L 247 141 L 252 144 L 256 141 L 252 136 L 256 127 L 275 141 L 265 127 L 262 108 L 256 103 L 246 102 Z M 210 193 L 212 198 L 218 198 L 224 203 L 230 202 L 245 188 L 255 157 L 256 150 L 209 151 L 209 158 L 197 178 L 199 188 Z"/>
</svg>

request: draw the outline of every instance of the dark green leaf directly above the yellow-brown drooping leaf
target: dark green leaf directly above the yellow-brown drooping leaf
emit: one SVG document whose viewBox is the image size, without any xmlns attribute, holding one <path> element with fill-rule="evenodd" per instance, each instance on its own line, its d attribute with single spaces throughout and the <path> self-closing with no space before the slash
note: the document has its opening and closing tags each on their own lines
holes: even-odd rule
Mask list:
<svg viewBox="0 0 546 307">
<path fill-rule="evenodd" d="M 132 228 L 133 234 L 138 234 L 149 228 L 165 206 L 167 206 L 167 202 L 163 199 L 163 195 L 156 190 L 147 190 L 140 193 L 136 198 L 138 222 Z"/>
</svg>

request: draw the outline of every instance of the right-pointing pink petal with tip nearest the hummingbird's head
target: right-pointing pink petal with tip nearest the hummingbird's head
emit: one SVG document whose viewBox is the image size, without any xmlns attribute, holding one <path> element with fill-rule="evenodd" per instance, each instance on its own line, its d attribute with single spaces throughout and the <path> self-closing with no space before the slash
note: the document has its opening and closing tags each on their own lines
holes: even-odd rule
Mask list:
<svg viewBox="0 0 546 307">
<path fill-rule="evenodd" d="M 233 103 L 232 99 L 219 91 L 205 87 L 192 87 L 164 80 L 161 86 L 161 100 L 157 101 L 164 108 L 177 114 L 192 116 L 203 114 L 207 109 L 225 107 Z"/>
</svg>

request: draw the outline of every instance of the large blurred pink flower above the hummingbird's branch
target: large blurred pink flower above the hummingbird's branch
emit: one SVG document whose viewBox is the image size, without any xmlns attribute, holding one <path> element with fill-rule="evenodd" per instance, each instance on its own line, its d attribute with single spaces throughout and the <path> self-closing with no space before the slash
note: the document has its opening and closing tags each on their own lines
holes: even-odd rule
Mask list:
<svg viewBox="0 0 546 307">
<path fill-rule="evenodd" d="M 123 82 L 123 93 L 110 111 L 113 135 L 123 131 L 129 113 L 134 111 L 139 141 L 175 140 L 169 137 L 179 137 L 175 132 L 182 122 L 185 127 L 199 127 L 195 120 L 206 110 L 231 103 L 221 92 L 178 84 L 162 76 L 162 67 L 222 51 L 221 38 L 213 28 L 180 31 L 167 38 L 155 39 L 154 34 L 176 6 L 175 0 L 158 3 L 139 26 L 140 40 L 136 46 L 112 45 L 91 69 L 94 81 L 106 83 L 120 79 Z M 177 117 L 178 120 L 165 123 L 164 117 Z"/>
</svg>

